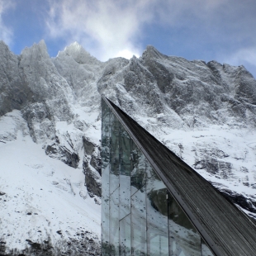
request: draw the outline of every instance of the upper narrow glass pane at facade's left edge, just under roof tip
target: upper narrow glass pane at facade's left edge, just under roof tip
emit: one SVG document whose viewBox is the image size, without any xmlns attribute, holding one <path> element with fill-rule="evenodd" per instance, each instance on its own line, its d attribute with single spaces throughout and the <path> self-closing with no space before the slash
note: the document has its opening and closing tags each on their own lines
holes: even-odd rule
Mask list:
<svg viewBox="0 0 256 256">
<path fill-rule="evenodd" d="M 102 100 L 102 173 L 109 164 L 110 153 L 110 109 L 107 103 Z"/>
</svg>

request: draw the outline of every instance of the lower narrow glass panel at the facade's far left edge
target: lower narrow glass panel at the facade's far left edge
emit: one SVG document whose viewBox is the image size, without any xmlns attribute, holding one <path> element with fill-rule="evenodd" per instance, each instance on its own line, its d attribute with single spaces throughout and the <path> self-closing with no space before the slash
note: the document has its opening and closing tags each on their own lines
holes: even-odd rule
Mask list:
<svg viewBox="0 0 256 256">
<path fill-rule="evenodd" d="M 102 255 L 109 255 L 109 170 L 102 173 Z"/>
</svg>

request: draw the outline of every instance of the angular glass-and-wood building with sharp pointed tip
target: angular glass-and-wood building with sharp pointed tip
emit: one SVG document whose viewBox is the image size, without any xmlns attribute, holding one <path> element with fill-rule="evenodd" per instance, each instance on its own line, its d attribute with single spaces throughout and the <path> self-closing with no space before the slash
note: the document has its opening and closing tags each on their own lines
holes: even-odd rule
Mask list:
<svg viewBox="0 0 256 256">
<path fill-rule="evenodd" d="M 256 226 L 102 97 L 102 255 L 256 255 Z"/>
</svg>

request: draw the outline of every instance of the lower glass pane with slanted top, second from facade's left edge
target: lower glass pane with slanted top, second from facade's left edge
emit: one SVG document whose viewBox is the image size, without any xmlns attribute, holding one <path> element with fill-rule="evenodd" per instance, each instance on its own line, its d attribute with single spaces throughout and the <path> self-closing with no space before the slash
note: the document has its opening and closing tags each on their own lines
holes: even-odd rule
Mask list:
<svg viewBox="0 0 256 256">
<path fill-rule="evenodd" d="M 110 255 L 119 253 L 119 189 L 116 189 L 110 197 L 110 214 L 109 214 L 109 240 Z"/>
</svg>

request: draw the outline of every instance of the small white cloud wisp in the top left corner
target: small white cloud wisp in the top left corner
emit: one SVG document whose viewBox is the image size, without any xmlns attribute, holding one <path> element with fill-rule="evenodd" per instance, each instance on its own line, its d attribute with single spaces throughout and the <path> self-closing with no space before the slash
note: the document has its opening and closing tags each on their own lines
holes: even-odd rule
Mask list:
<svg viewBox="0 0 256 256">
<path fill-rule="evenodd" d="M 12 44 L 12 28 L 8 27 L 2 21 L 2 14 L 7 12 L 7 10 L 11 7 L 14 7 L 14 2 L 11 0 L 5 1 L 0 0 L 0 40 L 3 40 L 7 45 Z"/>
</svg>

